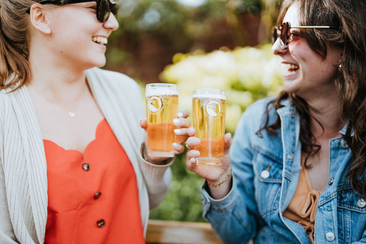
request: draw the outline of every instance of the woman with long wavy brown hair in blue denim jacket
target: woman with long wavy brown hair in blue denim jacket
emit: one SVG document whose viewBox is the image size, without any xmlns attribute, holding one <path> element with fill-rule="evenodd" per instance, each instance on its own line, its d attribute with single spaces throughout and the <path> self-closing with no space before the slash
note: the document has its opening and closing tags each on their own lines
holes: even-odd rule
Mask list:
<svg viewBox="0 0 366 244">
<path fill-rule="evenodd" d="M 187 152 L 203 216 L 226 243 L 366 243 L 365 1 L 285 0 L 272 52 L 284 90 L 246 109 L 223 164 Z"/>
</svg>

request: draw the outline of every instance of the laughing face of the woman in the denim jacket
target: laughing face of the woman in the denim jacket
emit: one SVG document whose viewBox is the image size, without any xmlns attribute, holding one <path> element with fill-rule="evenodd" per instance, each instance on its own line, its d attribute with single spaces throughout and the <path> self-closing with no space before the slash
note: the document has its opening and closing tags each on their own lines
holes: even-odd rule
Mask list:
<svg viewBox="0 0 366 244">
<path fill-rule="evenodd" d="M 290 22 L 292 26 L 299 25 L 299 6 L 295 2 L 288 8 L 282 22 Z M 327 47 L 326 59 L 322 59 L 309 47 L 306 40 L 300 37 L 300 29 L 290 29 L 288 48 L 280 48 L 280 39 L 272 46 L 272 52 L 281 57 L 284 90 L 293 92 L 304 99 L 314 96 L 324 96 L 334 90 L 334 79 L 337 67 L 333 64 L 340 59 L 341 51 Z"/>
</svg>

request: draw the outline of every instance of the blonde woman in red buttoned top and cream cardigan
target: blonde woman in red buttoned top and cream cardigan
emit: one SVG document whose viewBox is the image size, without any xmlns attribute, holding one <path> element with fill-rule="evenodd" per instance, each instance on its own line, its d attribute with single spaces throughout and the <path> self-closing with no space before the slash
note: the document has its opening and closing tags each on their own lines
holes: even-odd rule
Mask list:
<svg viewBox="0 0 366 244">
<path fill-rule="evenodd" d="M 109 0 L 0 1 L 1 244 L 145 243 L 173 160 L 145 152 L 137 83 L 97 68 L 117 10 Z M 176 154 L 190 125 L 178 115 Z"/>
</svg>

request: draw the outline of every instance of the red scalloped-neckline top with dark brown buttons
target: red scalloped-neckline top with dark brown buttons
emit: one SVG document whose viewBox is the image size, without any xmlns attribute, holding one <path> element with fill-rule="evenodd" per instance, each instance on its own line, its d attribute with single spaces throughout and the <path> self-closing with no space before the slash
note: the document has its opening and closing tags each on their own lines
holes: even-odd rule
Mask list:
<svg viewBox="0 0 366 244">
<path fill-rule="evenodd" d="M 134 169 L 106 119 L 85 148 L 43 140 L 47 161 L 47 244 L 143 244 Z"/>
</svg>

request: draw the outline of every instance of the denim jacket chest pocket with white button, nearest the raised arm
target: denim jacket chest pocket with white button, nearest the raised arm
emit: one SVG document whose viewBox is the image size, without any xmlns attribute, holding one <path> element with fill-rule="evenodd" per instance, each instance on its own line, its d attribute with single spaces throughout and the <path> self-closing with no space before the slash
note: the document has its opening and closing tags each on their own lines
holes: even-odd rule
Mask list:
<svg viewBox="0 0 366 244">
<path fill-rule="evenodd" d="M 266 214 L 278 208 L 277 198 L 282 182 L 283 164 L 280 158 L 271 152 L 259 147 L 255 147 L 254 150 L 254 196 L 259 214 L 266 219 Z M 269 223 L 269 219 L 266 222 Z"/>
</svg>

